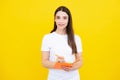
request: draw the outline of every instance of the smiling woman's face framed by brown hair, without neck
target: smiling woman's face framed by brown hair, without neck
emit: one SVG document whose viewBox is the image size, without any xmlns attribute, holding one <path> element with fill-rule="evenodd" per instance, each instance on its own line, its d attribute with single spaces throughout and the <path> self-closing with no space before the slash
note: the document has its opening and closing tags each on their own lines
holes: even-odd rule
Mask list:
<svg viewBox="0 0 120 80">
<path fill-rule="evenodd" d="M 68 15 L 66 12 L 58 11 L 55 16 L 57 29 L 65 29 L 68 24 Z"/>
</svg>

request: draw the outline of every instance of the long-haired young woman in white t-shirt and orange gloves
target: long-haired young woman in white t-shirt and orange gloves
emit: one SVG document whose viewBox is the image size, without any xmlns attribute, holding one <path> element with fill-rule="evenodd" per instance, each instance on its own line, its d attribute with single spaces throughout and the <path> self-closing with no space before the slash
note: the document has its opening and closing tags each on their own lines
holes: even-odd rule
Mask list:
<svg viewBox="0 0 120 80">
<path fill-rule="evenodd" d="M 49 69 L 48 80 L 80 80 L 82 44 L 72 28 L 70 10 L 60 6 L 54 13 L 54 28 L 42 40 L 42 64 Z"/>
</svg>

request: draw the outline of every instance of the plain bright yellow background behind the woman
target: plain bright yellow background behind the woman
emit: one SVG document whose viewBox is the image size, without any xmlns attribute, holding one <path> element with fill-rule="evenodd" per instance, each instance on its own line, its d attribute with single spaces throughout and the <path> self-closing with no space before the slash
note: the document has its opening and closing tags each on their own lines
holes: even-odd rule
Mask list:
<svg viewBox="0 0 120 80">
<path fill-rule="evenodd" d="M 81 80 L 120 80 L 119 0 L 1 0 L 0 80 L 46 80 L 41 41 L 53 14 L 67 6 L 82 39 Z"/>
</svg>

